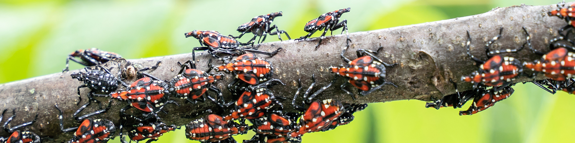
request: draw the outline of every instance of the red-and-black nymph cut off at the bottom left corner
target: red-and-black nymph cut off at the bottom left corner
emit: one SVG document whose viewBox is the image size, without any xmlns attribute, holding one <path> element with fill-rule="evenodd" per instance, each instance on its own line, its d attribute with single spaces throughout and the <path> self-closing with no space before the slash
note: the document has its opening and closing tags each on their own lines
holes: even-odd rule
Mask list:
<svg viewBox="0 0 575 143">
<path fill-rule="evenodd" d="M 4 113 L 6 113 L 7 109 L 2 111 L 2 116 L 0 116 L 0 122 L 2 122 L 2 117 L 4 117 Z M 38 120 L 38 114 L 34 117 L 34 120 L 25 122 L 24 124 L 20 124 L 17 126 L 13 126 L 10 128 L 8 125 L 10 121 L 12 121 L 16 117 L 16 109 L 12 110 L 12 116 L 8 118 L 8 120 L 2 126 L 5 132 L 11 133 L 10 137 L 3 138 L 0 137 L 0 142 L 2 143 L 40 143 L 40 137 L 36 133 L 32 132 L 20 132 L 20 130 L 16 130 L 18 128 L 23 128 L 24 126 L 32 125 L 36 120 Z"/>
</svg>

